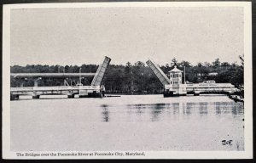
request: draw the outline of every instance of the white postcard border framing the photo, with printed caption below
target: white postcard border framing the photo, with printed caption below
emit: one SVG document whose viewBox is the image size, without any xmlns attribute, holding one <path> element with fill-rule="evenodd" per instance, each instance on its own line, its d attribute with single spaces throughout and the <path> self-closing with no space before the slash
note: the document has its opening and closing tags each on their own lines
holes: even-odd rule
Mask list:
<svg viewBox="0 0 256 163">
<path fill-rule="evenodd" d="M 245 87 L 245 150 L 244 151 L 145 151 L 145 156 L 38 156 L 20 157 L 10 150 L 10 10 L 15 8 L 110 8 L 110 7 L 243 7 L 244 8 L 244 85 Z M 3 5 L 3 159 L 252 159 L 253 158 L 253 78 L 252 78 L 252 10 L 250 2 L 172 2 L 172 3 L 30 3 Z M 27 151 L 29 153 L 29 151 Z M 78 153 L 81 151 L 40 151 Z M 84 151 L 94 153 L 95 151 Z M 98 151 L 104 153 L 104 151 Z M 135 151 L 131 151 L 135 152 Z M 20 153 L 25 153 L 22 151 Z"/>
</svg>

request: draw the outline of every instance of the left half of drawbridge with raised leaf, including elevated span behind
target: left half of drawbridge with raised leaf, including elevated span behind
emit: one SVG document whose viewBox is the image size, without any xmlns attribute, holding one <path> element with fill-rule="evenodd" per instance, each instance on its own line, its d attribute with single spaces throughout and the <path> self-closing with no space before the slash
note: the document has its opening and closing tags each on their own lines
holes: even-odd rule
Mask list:
<svg viewBox="0 0 256 163">
<path fill-rule="evenodd" d="M 34 87 L 10 87 L 10 98 L 19 99 L 20 95 L 32 96 L 32 98 L 40 98 L 40 95 L 67 95 L 68 98 L 76 97 L 102 97 L 102 78 L 110 63 L 111 59 L 105 57 L 101 65 L 99 65 L 96 73 L 11 73 L 16 79 L 31 77 L 34 79 Z M 79 77 L 94 76 L 90 86 L 83 86 L 80 82 L 76 86 L 54 86 L 54 87 L 38 87 L 38 80 L 44 77 Z M 64 80 L 64 83 L 67 83 Z"/>
</svg>

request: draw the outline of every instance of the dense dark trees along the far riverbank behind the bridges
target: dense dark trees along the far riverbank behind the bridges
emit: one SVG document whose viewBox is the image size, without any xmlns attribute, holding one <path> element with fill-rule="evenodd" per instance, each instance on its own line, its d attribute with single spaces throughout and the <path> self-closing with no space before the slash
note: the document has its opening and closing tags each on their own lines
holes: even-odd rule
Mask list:
<svg viewBox="0 0 256 163">
<path fill-rule="evenodd" d="M 180 70 L 185 68 L 187 82 L 197 83 L 205 80 L 214 80 L 216 82 L 230 82 L 239 87 L 243 85 L 244 74 L 243 56 L 239 57 L 241 65 L 220 62 L 219 59 L 215 59 L 212 64 L 205 62 L 191 65 L 187 61 L 178 62 L 174 58 L 170 65 L 161 65 L 160 69 L 168 74 L 168 71 L 172 70 L 173 65 L 177 65 L 177 68 Z M 79 73 L 80 68 L 81 72 L 96 72 L 97 67 L 98 65 L 14 65 L 11 66 L 11 72 Z M 38 82 L 38 86 L 60 86 L 63 85 L 63 80 L 61 78 L 43 78 Z M 73 80 L 79 81 L 79 78 Z M 91 80 L 92 78 L 83 78 L 82 83 L 90 85 Z M 33 81 L 30 78 L 20 80 L 11 78 L 11 87 L 18 87 L 20 83 L 24 83 L 24 87 L 33 85 Z M 137 61 L 133 65 L 130 62 L 127 62 L 126 65 L 108 65 L 102 84 L 105 85 L 108 93 L 160 93 L 163 89 L 163 86 L 152 70 L 141 61 Z"/>
</svg>

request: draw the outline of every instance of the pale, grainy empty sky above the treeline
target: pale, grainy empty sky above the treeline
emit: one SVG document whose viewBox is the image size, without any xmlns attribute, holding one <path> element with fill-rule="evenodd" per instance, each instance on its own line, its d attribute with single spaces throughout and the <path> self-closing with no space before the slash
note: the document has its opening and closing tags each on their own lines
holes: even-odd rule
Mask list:
<svg viewBox="0 0 256 163">
<path fill-rule="evenodd" d="M 242 8 L 12 9 L 11 65 L 240 63 Z"/>
</svg>

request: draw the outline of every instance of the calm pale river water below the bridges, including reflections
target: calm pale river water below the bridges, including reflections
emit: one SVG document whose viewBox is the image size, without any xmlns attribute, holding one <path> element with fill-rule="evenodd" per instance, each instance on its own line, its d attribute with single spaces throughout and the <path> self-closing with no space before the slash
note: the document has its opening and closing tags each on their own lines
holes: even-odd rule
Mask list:
<svg viewBox="0 0 256 163">
<path fill-rule="evenodd" d="M 226 96 L 11 101 L 11 149 L 244 150 L 243 104 Z"/>
</svg>

